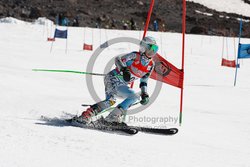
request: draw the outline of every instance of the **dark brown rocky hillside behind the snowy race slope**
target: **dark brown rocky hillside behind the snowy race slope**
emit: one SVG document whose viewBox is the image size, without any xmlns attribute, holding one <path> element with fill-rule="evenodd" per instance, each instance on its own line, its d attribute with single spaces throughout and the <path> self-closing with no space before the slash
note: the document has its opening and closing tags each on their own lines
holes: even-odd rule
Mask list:
<svg viewBox="0 0 250 167">
<path fill-rule="evenodd" d="M 218 0 L 219 1 L 219 0 Z M 249 0 L 243 0 L 250 5 Z M 25 21 L 47 17 L 56 21 L 59 14 L 67 17 L 72 25 L 78 18 L 79 26 L 131 29 L 131 18 L 136 28 L 142 30 L 146 21 L 150 0 L 1 0 L 0 18 L 11 16 Z M 202 13 L 210 13 L 207 16 Z M 225 12 L 217 12 L 203 5 L 187 2 L 187 33 L 237 36 L 239 18 L 250 17 Z M 159 31 L 181 32 L 182 0 L 155 0 L 149 29 L 157 20 Z M 250 23 L 243 25 L 243 37 L 250 37 Z"/>
</svg>

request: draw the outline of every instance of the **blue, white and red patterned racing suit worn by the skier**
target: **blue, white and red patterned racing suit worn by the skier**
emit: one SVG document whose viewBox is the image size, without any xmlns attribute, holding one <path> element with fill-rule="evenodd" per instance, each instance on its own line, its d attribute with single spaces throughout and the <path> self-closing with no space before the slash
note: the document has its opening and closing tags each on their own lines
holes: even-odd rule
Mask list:
<svg viewBox="0 0 250 167">
<path fill-rule="evenodd" d="M 132 52 L 115 59 L 116 68 L 110 71 L 104 78 L 106 99 L 91 107 L 95 115 L 115 104 L 116 98 L 124 98 L 117 107 L 125 114 L 128 108 L 140 99 L 140 94 L 129 87 L 129 84 L 140 78 L 141 92 L 147 92 L 147 81 L 154 68 L 154 63 L 139 52 Z M 131 73 L 129 82 L 124 81 L 122 68 L 127 67 Z M 112 112 L 111 112 L 112 113 Z"/>
</svg>

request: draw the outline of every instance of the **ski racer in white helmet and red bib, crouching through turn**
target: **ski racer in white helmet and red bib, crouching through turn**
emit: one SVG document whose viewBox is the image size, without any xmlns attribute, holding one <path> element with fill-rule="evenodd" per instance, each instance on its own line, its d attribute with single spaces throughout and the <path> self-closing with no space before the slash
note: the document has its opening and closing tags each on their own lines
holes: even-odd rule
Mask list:
<svg viewBox="0 0 250 167">
<path fill-rule="evenodd" d="M 89 124 L 91 117 L 96 116 L 103 110 L 113 106 L 116 97 L 125 100 L 118 104 L 113 111 L 105 118 L 108 122 L 122 122 L 123 115 L 128 108 L 136 101 L 140 100 L 142 105 L 149 102 L 147 93 L 147 80 L 154 69 L 153 57 L 158 51 L 158 46 L 153 37 L 144 37 L 140 42 L 139 52 L 132 52 L 115 59 L 116 68 L 110 71 L 104 78 L 106 99 L 91 105 L 77 121 Z M 136 94 L 128 84 L 140 78 L 140 95 Z"/>
</svg>

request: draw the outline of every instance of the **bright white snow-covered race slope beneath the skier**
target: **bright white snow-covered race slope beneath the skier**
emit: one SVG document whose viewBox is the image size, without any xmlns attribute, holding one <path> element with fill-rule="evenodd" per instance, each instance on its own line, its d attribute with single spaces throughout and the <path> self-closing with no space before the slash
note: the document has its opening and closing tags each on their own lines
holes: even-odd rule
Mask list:
<svg viewBox="0 0 250 167">
<path fill-rule="evenodd" d="M 94 103 L 86 77 L 71 73 L 34 72 L 33 68 L 86 71 L 93 52 L 82 51 L 83 28 L 69 28 L 66 43 L 46 41 L 50 27 L 0 24 L 0 166 L 1 167 L 149 167 L 249 166 L 250 60 L 241 63 L 237 86 L 234 69 L 221 67 L 222 38 L 187 35 L 183 125 L 175 136 L 139 133 L 124 136 L 76 127 L 49 126 L 41 115 L 80 114 L 82 103 Z M 106 39 L 141 38 L 142 32 L 86 28 L 86 43 L 94 49 Z M 159 53 L 180 67 L 181 34 L 153 33 Z M 243 42 L 250 43 L 249 39 Z M 233 39 L 228 39 L 233 57 Z M 237 43 L 237 42 L 236 42 Z M 103 73 L 119 54 L 137 50 L 130 43 L 105 49 L 94 65 Z M 102 77 L 94 88 L 104 98 Z M 138 87 L 138 83 L 135 84 Z M 155 81 L 149 81 L 149 92 Z M 128 116 L 132 125 L 178 127 L 179 90 L 164 84 L 156 101 L 145 111 Z M 164 118 L 160 122 L 157 118 Z M 144 121 L 140 121 L 143 120 Z M 153 121 L 154 120 L 154 121 Z"/>
</svg>

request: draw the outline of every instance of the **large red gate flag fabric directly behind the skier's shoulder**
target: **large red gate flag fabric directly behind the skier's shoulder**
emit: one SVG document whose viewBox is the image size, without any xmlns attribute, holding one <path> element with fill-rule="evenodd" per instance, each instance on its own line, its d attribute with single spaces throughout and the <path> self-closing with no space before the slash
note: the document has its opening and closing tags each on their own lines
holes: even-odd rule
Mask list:
<svg viewBox="0 0 250 167">
<path fill-rule="evenodd" d="M 177 88 L 183 88 L 183 71 L 165 60 L 159 54 L 154 57 L 155 68 L 150 78 L 162 81 Z"/>
</svg>

